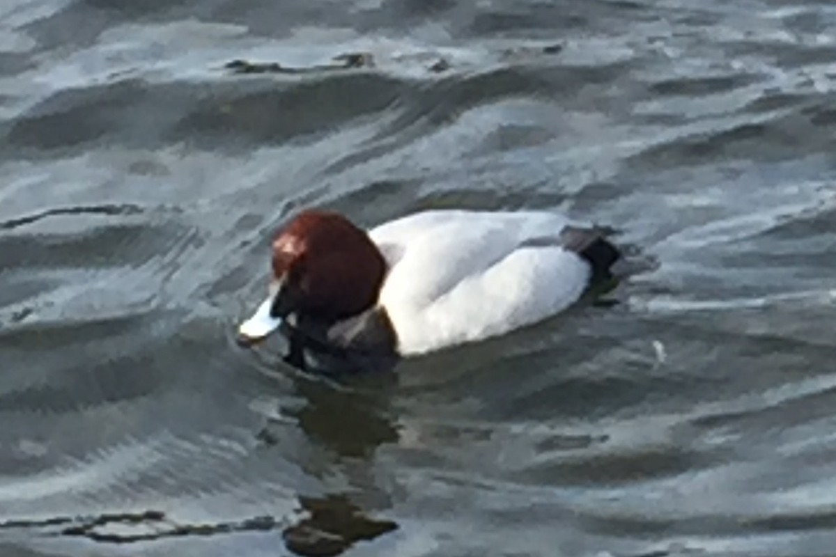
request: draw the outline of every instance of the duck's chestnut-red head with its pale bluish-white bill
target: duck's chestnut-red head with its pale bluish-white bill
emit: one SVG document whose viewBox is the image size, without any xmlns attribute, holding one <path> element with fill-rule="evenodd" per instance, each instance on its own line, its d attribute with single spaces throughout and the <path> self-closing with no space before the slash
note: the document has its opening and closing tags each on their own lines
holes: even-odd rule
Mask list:
<svg viewBox="0 0 836 557">
<path fill-rule="evenodd" d="M 386 263 L 344 216 L 306 210 L 278 230 L 272 270 L 267 300 L 238 328 L 242 345 L 268 337 L 291 315 L 329 324 L 374 306 Z"/>
</svg>

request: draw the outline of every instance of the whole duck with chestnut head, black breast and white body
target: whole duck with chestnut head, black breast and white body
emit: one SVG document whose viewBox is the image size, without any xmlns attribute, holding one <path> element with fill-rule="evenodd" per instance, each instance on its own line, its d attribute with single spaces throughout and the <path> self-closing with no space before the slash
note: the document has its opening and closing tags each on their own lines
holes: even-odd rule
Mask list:
<svg viewBox="0 0 836 557">
<path fill-rule="evenodd" d="M 273 237 L 268 296 L 237 340 L 282 331 L 298 367 L 306 347 L 402 358 L 480 342 L 612 278 L 612 231 L 547 210 L 423 210 L 370 230 L 301 210 Z"/>
</svg>

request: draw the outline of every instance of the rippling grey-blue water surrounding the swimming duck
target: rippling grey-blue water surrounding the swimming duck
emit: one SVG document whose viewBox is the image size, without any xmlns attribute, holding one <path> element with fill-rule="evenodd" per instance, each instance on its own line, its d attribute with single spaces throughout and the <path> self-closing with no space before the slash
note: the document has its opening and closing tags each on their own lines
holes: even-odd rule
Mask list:
<svg viewBox="0 0 836 557">
<path fill-rule="evenodd" d="M 8 0 L 3 554 L 832 555 L 834 60 L 826 2 Z M 233 342 L 308 205 L 657 266 L 326 382 Z"/>
</svg>

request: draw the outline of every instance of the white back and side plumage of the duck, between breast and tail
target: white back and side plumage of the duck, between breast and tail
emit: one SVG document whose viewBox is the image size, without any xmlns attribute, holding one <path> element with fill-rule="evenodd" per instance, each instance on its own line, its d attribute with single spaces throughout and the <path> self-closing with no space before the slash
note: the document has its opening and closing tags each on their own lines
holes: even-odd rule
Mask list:
<svg viewBox="0 0 836 557">
<path fill-rule="evenodd" d="M 591 268 L 547 212 L 436 210 L 370 230 L 390 265 L 380 292 L 409 355 L 538 322 L 586 288 Z"/>
</svg>

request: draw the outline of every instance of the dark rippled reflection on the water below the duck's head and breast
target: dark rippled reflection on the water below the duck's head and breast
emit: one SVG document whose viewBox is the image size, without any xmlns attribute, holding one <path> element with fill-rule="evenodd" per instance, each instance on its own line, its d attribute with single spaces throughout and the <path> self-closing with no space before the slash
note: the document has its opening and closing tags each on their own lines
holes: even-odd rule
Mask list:
<svg viewBox="0 0 836 557">
<path fill-rule="evenodd" d="M 288 550 L 305 556 L 338 555 L 357 542 L 397 529 L 398 525 L 389 519 L 364 513 L 364 507 L 388 505 L 388 494 L 375 487 L 379 479 L 375 478 L 371 460 L 377 448 L 399 440 L 398 429 L 387 412 L 388 387 L 395 385 L 395 374 L 334 378 L 302 372 L 293 377 L 296 393 L 304 403 L 297 408 L 282 408 L 282 419 L 272 418 L 257 433 L 257 439 L 268 445 L 278 444 L 282 436 L 271 429 L 285 427 L 289 419 L 308 440 L 335 455 L 336 462 L 329 459 L 327 469 L 314 471 L 306 466 L 308 472 L 326 477 L 338 466 L 353 489 L 351 496 L 300 495 L 300 518 L 283 529 Z"/>
</svg>

